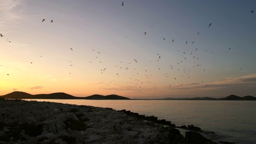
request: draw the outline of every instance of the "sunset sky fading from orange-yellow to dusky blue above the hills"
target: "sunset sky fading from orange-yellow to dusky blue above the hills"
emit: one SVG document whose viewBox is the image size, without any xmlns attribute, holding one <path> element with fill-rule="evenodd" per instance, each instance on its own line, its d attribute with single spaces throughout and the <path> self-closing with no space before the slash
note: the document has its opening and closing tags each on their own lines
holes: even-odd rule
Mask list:
<svg viewBox="0 0 256 144">
<path fill-rule="evenodd" d="M 1 0 L 0 95 L 256 96 L 255 24 L 255 0 Z"/>
</svg>

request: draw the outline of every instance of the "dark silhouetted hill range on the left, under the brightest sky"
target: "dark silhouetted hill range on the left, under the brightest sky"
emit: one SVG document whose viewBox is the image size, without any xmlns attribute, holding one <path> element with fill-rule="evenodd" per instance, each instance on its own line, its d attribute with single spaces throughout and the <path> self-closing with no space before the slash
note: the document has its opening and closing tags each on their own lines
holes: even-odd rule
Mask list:
<svg viewBox="0 0 256 144">
<path fill-rule="evenodd" d="M 0 96 L 2 98 L 10 98 L 10 99 L 86 99 L 86 100 L 130 100 L 130 98 L 126 98 L 123 96 L 118 96 L 115 94 L 102 96 L 98 94 L 94 94 L 92 96 L 87 97 L 76 97 L 70 94 L 66 94 L 64 92 L 56 92 L 52 94 L 28 94 L 26 92 L 11 92 L 10 94 L 6 94 L 4 96 Z"/>
</svg>

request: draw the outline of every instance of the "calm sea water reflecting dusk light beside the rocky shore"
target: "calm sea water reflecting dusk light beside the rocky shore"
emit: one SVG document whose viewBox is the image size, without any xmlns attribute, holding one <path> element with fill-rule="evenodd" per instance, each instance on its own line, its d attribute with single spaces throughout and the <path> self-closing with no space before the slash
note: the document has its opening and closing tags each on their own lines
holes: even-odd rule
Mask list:
<svg viewBox="0 0 256 144">
<path fill-rule="evenodd" d="M 37 100 L 130 110 L 176 126 L 190 125 L 215 134 L 207 138 L 236 144 L 256 143 L 256 101 L 210 100 Z M 184 133 L 184 131 L 181 131 Z"/>
</svg>

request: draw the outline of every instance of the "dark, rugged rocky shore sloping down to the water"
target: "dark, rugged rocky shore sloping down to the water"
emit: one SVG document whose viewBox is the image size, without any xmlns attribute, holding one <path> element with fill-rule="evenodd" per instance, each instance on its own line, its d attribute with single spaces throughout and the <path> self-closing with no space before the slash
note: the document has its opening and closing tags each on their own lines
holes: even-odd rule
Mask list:
<svg viewBox="0 0 256 144">
<path fill-rule="evenodd" d="M 190 126 L 191 128 L 191 126 Z M 197 128 L 198 129 L 198 128 Z M 0 100 L 0 144 L 216 144 L 170 121 L 126 110 Z"/>
</svg>

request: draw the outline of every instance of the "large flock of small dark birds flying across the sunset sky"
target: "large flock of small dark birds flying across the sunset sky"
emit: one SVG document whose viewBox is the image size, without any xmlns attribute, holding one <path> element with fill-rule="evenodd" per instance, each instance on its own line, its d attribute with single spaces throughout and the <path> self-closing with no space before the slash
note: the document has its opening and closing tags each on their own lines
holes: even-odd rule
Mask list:
<svg viewBox="0 0 256 144">
<path fill-rule="evenodd" d="M 121 6 L 124 6 L 124 2 L 122 2 L 122 4 L 121 4 Z M 251 10 L 251 12 L 252 13 L 254 13 L 254 11 L 253 10 Z M 44 21 L 46 21 L 45 19 L 43 19 L 42 20 L 42 22 L 44 22 Z M 53 20 L 51 20 L 50 22 L 53 22 Z M 212 23 L 210 23 L 209 25 L 208 25 L 208 28 L 210 28 L 210 26 L 212 26 Z M 147 34 L 147 32 L 144 32 L 144 35 L 146 35 Z M 199 35 L 199 32 L 197 33 L 197 35 Z M 1 37 L 3 37 L 3 35 L 2 34 L 0 34 L 0 36 Z M 163 40 L 166 40 L 166 38 L 163 38 Z M 10 42 L 10 41 L 8 41 L 8 42 Z M 174 42 L 174 39 L 172 39 L 172 42 Z M 193 41 L 191 44 L 194 44 L 194 42 L 195 41 Z M 186 41 L 186 44 L 188 44 L 188 41 Z M 230 51 L 230 49 L 231 48 L 228 48 L 228 51 Z M 73 51 L 73 49 L 72 48 L 70 48 L 70 50 L 72 50 Z M 94 51 L 94 52 L 97 52 L 98 54 L 100 54 L 100 52 L 98 52 L 98 51 L 96 51 L 96 50 L 94 50 L 94 49 L 91 49 L 92 51 Z M 189 54 L 186 54 L 186 52 L 182 52 L 182 60 L 181 61 L 178 61 L 178 62 L 176 62 L 177 64 L 172 64 L 172 65 L 174 65 L 174 66 L 172 66 L 172 65 L 170 65 L 170 69 L 172 70 L 172 69 L 176 69 L 176 70 L 179 70 L 179 71 L 181 71 L 182 72 L 182 74 L 181 74 L 181 77 L 187 77 L 187 78 L 191 78 L 191 76 L 189 75 L 190 74 L 190 72 L 191 72 L 191 70 L 189 69 L 189 68 L 183 68 L 183 69 L 180 69 L 180 67 L 178 67 L 177 65 L 180 65 L 181 63 L 184 63 L 184 61 L 185 60 L 187 60 L 187 58 L 190 58 L 190 59 L 192 59 L 193 60 L 193 63 L 194 63 L 194 66 L 193 66 L 193 68 L 195 68 L 195 67 L 200 67 L 200 66 L 202 66 L 202 64 L 195 64 L 196 63 L 196 60 L 198 60 L 199 58 L 198 57 L 196 57 L 196 56 L 192 56 L 192 53 L 194 54 L 196 51 L 198 50 L 198 48 L 196 48 L 195 50 L 194 50 L 194 52 L 189 52 Z M 180 51 L 180 50 L 178 50 L 178 51 Z M 205 52 L 206 52 L 207 50 L 205 50 Z M 211 52 L 211 53 L 213 53 L 213 52 Z M 191 56 L 190 56 L 191 55 Z M 42 56 L 40 56 L 40 57 L 42 57 Z M 96 57 L 96 58 L 98 58 L 98 56 Z M 138 63 L 138 61 L 136 60 L 136 59 L 133 59 L 134 60 L 134 62 L 136 62 L 136 63 Z M 161 60 L 161 56 L 159 55 L 159 54 L 157 54 L 157 61 L 159 61 L 159 60 Z M 153 60 L 152 60 L 153 61 Z M 153 63 L 152 61 L 149 61 L 150 63 Z M 72 61 L 69 61 L 69 62 L 71 62 L 72 63 Z M 32 64 L 33 62 L 30 62 L 30 64 Z M 90 63 L 92 63 L 92 61 L 90 61 Z M 99 63 L 102 63 L 101 61 L 99 61 Z M 129 62 L 128 64 L 131 64 L 132 62 Z M 212 64 L 214 64 L 214 62 L 212 62 Z M 2 65 L 0 65 L 0 66 L 2 66 Z M 70 64 L 69 66 L 73 66 L 73 64 Z M 147 64 L 146 65 L 144 65 L 144 66 L 147 66 Z M 177 66 L 177 67 L 175 67 L 175 66 Z M 116 66 L 114 66 L 114 68 L 120 68 L 120 69 L 123 69 L 123 70 L 130 70 L 130 69 L 132 69 L 132 70 L 134 70 L 133 72 L 133 74 L 130 76 L 130 78 L 128 79 L 128 81 L 127 81 L 127 83 L 129 83 L 129 82 L 133 82 L 134 80 L 136 80 L 134 77 L 136 76 L 136 75 L 139 75 L 139 72 L 138 71 L 136 71 L 137 70 L 137 68 L 136 67 L 133 67 L 133 68 L 128 68 L 129 66 L 124 66 L 124 63 L 122 63 L 122 62 L 120 62 L 120 64 L 117 64 Z M 106 71 L 106 69 L 107 68 L 102 68 L 102 69 L 100 69 L 100 72 L 101 72 L 101 74 L 103 74 L 105 71 Z M 160 70 L 160 68 L 157 68 L 158 70 Z M 239 70 L 242 70 L 242 68 L 240 68 Z M 202 70 L 203 72 L 205 71 L 205 69 L 204 70 Z M 69 72 L 69 74 L 71 74 L 70 72 Z M 123 74 L 126 74 L 126 73 L 123 73 Z M 144 76 L 146 76 L 146 77 L 149 77 L 149 76 L 153 76 L 152 74 L 148 74 L 147 73 L 147 70 L 145 69 L 145 72 L 143 73 L 144 74 Z M 9 76 L 9 74 L 7 74 L 8 76 Z M 117 77 L 120 77 L 122 74 L 120 74 L 120 73 L 116 73 L 116 76 Z M 168 73 L 167 72 L 165 72 L 165 73 L 163 73 L 163 76 L 166 76 L 166 77 L 168 77 L 168 78 L 170 78 L 171 76 L 170 75 L 168 75 Z M 169 77 L 170 76 L 170 77 Z M 176 79 L 178 79 L 178 77 L 173 77 L 173 80 L 176 80 Z M 200 78 L 198 78 L 198 79 L 200 79 Z M 112 83 L 112 82 L 114 82 L 115 80 L 112 80 L 112 81 L 110 81 L 110 83 Z M 136 81 L 140 81 L 140 80 L 136 80 Z M 143 87 L 143 82 L 144 83 L 150 83 L 150 81 L 143 81 L 142 80 L 142 82 L 140 83 L 140 85 L 138 86 L 138 91 L 141 91 L 141 88 Z M 202 80 L 200 80 L 200 82 L 201 83 L 203 83 L 203 81 Z M 108 83 L 107 85 L 109 86 L 110 85 L 110 83 Z M 184 84 L 180 84 L 179 86 L 183 86 Z M 171 84 L 169 84 L 168 86 L 172 86 Z M 177 86 L 177 85 L 176 85 Z M 205 85 L 205 86 L 208 86 L 207 84 Z M 154 88 L 154 89 L 156 89 L 156 88 Z M 17 90 L 17 88 L 13 88 L 13 90 Z M 151 89 L 148 89 L 148 90 L 151 90 Z"/>
</svg>

